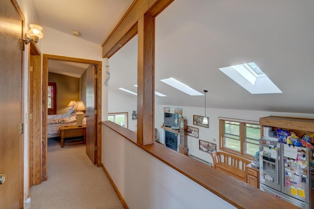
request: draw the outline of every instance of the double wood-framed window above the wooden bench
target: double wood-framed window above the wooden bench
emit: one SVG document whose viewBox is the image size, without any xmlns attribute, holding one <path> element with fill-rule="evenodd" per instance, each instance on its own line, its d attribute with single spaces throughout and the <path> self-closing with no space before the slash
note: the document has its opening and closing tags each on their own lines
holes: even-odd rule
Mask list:
<svg viewBox="0 0 314 209">
<path fill-rule="evenodd" d="M 257 121 L 219 118 L 220 149 L 253 158 L 259 151 L 261 126 Z"/>
</svg>

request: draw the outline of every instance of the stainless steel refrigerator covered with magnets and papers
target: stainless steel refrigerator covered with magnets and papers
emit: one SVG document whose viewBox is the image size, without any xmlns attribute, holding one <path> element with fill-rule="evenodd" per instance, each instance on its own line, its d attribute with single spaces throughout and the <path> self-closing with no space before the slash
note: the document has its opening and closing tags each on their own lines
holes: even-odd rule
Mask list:
<svg viewBox="0 0 314 209">
<path fill-rule="evenodd" d="M 260 189 L 302 209 L 310 209 L 311 157 L 312 151 L 307 147 L 261 139 Z"/>
</svg>

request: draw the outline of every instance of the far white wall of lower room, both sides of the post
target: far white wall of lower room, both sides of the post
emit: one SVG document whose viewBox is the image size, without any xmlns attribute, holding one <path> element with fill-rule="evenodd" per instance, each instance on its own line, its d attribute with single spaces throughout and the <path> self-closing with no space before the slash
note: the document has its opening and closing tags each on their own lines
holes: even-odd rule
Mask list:
<svg viewBox="0 0 314 209">
<path fill-rule="evenodd" d="M 131 111 L 136 110 L 136 97 L 127 96 L 125 93 L 110 90 L 108 93 L 108 110 L 109 112 L 129 112 L 129 129 L 134 130 L 136 121 L 131 120 Z M 164 130 L 160 128 L 163 122 L 163 107 L 170 107 L 170 112 L 174 113 L 174 109 L 178 106 L 155 105 L 155 127 L 158 129 L 158 141 L 164 143 Z M 299 114 L 299 113 L 282 113 L 282 112 L 265 112 L 265 111 L 247 111 L 247 110 L 230 110 L 230 109 L 214 109 L 207 108 L 206 116 L 209 117 L 209 128 L 193 125 L 193 115 L 204 116 L 204 108 L 183 107 L 183 116 L 187 119 L 187 125 L 199 129 L 199 139 L 217 144 L 219 151 L 219 119 L 218 117 L 236 118 L 244 120 L 259 121 L 260 117 L 265 116 L 291 116 L 314 118 L 314 114 Z M 105 119 L 107 120 L 107 119 Z M 133 123 L 132 123 L 133 122 Z M 208 153 L 199 150 L 199 139 L 187 137 L 189 153 L 197 156 L 205 161 L 212 163 L 212 158 Z M 216 139 L 216 141 L 214 141 Z"/>
</svg>

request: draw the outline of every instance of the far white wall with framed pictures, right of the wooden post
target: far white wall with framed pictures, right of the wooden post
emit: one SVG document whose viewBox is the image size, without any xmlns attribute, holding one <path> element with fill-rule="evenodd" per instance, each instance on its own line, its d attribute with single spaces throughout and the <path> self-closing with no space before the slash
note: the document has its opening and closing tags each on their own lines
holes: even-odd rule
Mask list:
<svg viewBox="0 0 314 209">
<path fill-rule="evenodd" d="M 164 143 L 163 129 L 160 128 L 160 121 L 163 121 L 163 107 L 170 107 L 170 113 L 174 113 L 174 109 L 178 106 L 169 105 L 156 105 L 155 106 L 155 127 L 157 127 L 160 133 L 158 141 Z M 246 111 L 246 110 L 229 110 L 229 109 L 206 109 L 206 116 L 209 117 L 209 128 L 193 125 L 193 115 L 204 116 L 204 108 L 196 107 L 182 107 L 183 116 L 187 119 L 187 125 L 193 126 L 199 129 L 199 139 L 209 141 L 217 144 L 217 151 L 219 151 L 219 119 L 218 117 L 245 119 L 259 121 L 260 117 L 265 116 L 291 116 L 291 117 L 304 117 L 314 118 L 314 114 L 296 114 L 296 113 L 280 113 L 280 112 L 264 112 L 264 111 Z M 187 137 L 189 153 L 197 156 L 203 160 L 212 163 L 212 158 L 208 153 L 199 150 L 199 139 L 194 137 Z M 213 141 L 216 139 L 216 142 Z M 257 150 L 258 151 L 258 150 Z"/>
</svg>

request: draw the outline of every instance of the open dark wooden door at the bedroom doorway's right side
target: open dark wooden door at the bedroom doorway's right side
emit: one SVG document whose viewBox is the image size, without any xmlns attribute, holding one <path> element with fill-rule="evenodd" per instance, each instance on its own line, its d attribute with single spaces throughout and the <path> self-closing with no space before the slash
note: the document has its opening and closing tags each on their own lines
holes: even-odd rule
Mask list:
<svg viewBox="0 0 314 209">
<path fill-rule="evenodd" d="M 96 68 L 90 65 L 86 69 L 86 154 L 96 164 Z"/>
</svg>

